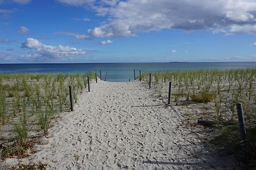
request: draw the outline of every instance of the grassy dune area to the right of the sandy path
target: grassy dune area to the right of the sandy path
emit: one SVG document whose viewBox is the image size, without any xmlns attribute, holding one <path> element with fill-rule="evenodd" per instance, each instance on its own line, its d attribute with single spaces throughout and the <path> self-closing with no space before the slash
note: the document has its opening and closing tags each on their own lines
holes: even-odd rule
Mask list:
<svg viewBox="0 0 256 170">
<path fill-rule="evenodd" d="M 149 73 L 144 73 L 141 77 L 149 83 Z M 200 114 L 196 115 L 197 119 L 236 122 L 230 126 L 217 125 L 216 129 L 220 131 L 212 139 L 212 143 L 215 148 L 225 148 L 234 153 L 238 159 L 243 155 L 243 143 L 239 136 L 236 103 L 243 104 L 248 134 L 246 161 L 249 167 L 256 167 L 256 69 L 155 72 L 152 73 L 151 81 L 164 101 L 168 99 L 168 85 L 171 81 L 171 105 L 200 110 Z"/>
</svg>

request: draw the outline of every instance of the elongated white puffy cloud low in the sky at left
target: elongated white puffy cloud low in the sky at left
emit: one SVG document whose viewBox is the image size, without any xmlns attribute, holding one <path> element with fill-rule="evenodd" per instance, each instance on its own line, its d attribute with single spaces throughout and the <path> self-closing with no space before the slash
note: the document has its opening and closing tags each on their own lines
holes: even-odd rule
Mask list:
<svg viewBox="0 0 256 170">
<path fill-rule="evenodd" d="M 79 50 L 74 47 L 69 46 L 51 46 L 51 45 L 44 45 L 38 39 L 28 38 L 24 43 L 21 45 L 22 48 L 29 48 L 35 49 L 41 55 L 47 55 L 51 57 L 67 57 L 69 55 L 81 55 L 85 54 L 86 51 Z"/>
</svg>

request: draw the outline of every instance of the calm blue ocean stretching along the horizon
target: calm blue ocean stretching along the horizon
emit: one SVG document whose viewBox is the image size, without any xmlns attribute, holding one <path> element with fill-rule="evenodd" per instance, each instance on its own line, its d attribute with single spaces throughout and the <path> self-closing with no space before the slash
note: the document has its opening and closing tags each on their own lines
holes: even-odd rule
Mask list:
<svg viewBox="0 0 256 170">
<path fill-rule="evenodd" d="M 0 64 L 0 73 L 102 73 L 102 80 L 129 81 L 145 72 L 199 69 L 256 68 L 256 62 L 154 62 L 154 63 L 68 63 L 68 64 Z M 106 76 L 107 75 L 107 76 Z"/>
</svg>

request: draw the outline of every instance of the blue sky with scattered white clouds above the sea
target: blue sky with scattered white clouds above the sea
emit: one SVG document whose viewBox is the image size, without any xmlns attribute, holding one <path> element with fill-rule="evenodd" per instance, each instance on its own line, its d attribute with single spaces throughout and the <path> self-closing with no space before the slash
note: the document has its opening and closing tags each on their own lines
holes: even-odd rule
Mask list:
<svg viewBox="0 0 256 170">
<path fill-rule="evenodd" d="M 0 63 L 256 61 L 255 0 L 0 0 Z"/>
</svg>

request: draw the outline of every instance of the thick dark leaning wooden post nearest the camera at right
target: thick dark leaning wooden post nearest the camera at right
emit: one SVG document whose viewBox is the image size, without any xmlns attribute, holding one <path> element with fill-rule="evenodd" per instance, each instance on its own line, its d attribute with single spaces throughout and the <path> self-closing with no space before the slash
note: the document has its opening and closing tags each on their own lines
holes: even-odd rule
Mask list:
<svg viewBox="0 0 256 170">
<path fill-rule="evenodd" d="M 243 148 L 243 160 L 246 161 L 246 130 L 244 124 L 243 106 L 241 103 L 236 104 L 236 110 L 239 123 L 239 131 L 241 136 L 241 143 Z"/>
</svg>

